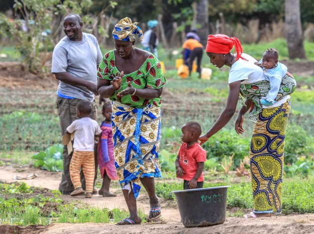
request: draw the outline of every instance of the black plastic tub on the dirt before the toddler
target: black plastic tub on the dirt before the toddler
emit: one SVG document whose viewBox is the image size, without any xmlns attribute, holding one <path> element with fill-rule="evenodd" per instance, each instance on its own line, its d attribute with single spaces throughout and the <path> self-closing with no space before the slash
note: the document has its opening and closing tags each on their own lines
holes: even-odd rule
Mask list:
<svg viewBox="0 0 314 234">
<path fill-rule="evenodd" d="M 184 227 L 206 227 L 226 220 L 227 188 L 220 186 L 180 190 L 175 194 Z"/>
</svg>

